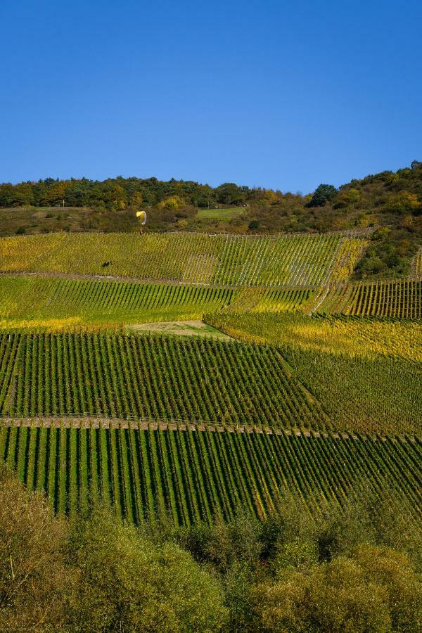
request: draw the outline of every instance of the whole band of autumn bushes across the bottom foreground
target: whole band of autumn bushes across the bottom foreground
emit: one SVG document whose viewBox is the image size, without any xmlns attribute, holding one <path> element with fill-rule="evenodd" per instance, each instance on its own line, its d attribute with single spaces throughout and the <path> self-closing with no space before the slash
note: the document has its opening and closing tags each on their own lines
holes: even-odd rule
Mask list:
<svg viewBox="0 0 422 633">
<path fill-rule="evenodd" d="M 421 629 L 421 529 L 364 494 L 311 518 L 293 497 L 257 521 L 69 522 L 0 475 L 0 620 L 8 630 L 395 632 Z"/>
</svg>

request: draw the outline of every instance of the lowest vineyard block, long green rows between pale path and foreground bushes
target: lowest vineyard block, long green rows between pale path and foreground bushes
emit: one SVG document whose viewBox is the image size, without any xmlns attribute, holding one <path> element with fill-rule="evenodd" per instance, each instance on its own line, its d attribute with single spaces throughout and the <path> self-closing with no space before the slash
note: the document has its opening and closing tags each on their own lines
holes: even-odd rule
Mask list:
<svg viewBox="0 0 422 633">
<path fill-rule="evenodd" d="M 101 497 L 137 524 L 210 523 L 241 509 L 263 517 L 283 490 L 318 512 L 361 486 L 421 511 L 417 440 L 13 426 L 0 429 L 0 457 L 28 487 L 46 490 L 60 514 Z"/>
</svg>

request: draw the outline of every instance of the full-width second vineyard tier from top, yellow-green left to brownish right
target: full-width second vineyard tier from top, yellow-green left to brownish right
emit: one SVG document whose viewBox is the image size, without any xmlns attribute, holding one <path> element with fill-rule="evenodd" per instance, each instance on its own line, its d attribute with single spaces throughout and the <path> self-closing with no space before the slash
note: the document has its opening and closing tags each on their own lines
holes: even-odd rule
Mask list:
<svg viewBox="0 0 422 633">
<path fill-rule="evenodd" d="M 422 281 L 230 288 L 39 275 L 0 276 L 0 328 L 117 326 L 200 319 L 204 313 L 315 312 L 422 318 Z"/>
</svg>

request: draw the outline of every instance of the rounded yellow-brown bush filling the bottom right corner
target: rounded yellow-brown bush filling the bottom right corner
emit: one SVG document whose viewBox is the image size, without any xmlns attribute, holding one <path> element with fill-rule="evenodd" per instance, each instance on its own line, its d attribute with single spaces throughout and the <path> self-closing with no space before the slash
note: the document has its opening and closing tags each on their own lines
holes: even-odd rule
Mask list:
<svg viewBox="0 0 422 633">
<path fill-rule="evenodd" d="M 422 583 L 409 559 L 360 545 L 349 557 L 286 570 L 250 590 L 252 629 L 381 633 L 421 630 Z"/>
</svg>

